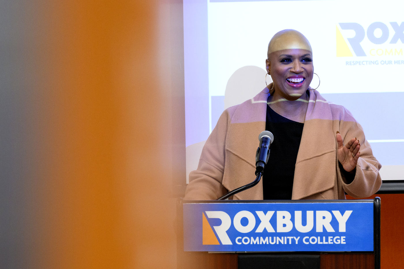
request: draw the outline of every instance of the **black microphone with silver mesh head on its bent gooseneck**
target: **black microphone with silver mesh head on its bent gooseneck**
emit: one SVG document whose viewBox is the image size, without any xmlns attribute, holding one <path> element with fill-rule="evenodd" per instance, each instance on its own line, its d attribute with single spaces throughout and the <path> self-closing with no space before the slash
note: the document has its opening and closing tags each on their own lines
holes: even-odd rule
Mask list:
<svg viewBox="0 0 404 269">
<path fill-rule="evenodd" d="M 225 200 L 226 198 L 229 198 L 231 195 L 239 193 L 240 191 L 245 191 L 246 189 L 250 189 L 251 187 L 254 187 L 259 183 L 263 175 L 265 165 L 268 162 L 269 146 L 274 141 L 274 135 L 272 135 L 272 133 L 269 131 L 263 131 L 259 135 L 258 140 L 259 140 L 259 147 L 257 149 L 257 153 L 255 154 L 255 166 L 256 166 L 255 175 L 257 176 L 255 180 L 240 188 L 229 191 L 222 197 L 217 198 L 217 200 Z"/>
</svg>

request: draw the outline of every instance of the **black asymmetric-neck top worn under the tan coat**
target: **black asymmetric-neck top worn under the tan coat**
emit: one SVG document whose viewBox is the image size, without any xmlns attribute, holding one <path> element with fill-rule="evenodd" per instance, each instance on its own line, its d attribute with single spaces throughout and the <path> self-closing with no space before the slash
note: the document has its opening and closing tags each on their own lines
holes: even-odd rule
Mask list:
<svg viewBox="0 0 404 269">
<path fill-rule="evenodd" d="M 269 148 L 262 183 L 264 200 L 291 200 L 293 177 L 303 123 L 280 116 L 267 105 L 265 130 L 272 132 L 274 142 Z"/>
</svg>

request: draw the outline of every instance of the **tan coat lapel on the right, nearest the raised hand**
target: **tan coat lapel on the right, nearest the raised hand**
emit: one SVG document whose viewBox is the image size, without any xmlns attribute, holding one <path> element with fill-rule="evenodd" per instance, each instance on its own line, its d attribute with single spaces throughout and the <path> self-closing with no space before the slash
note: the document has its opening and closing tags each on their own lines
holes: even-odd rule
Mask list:
<svg viewBox="0 0 404 269">
<path fill-rule="evenodd" d="M 335 186 L 336 140 L 328 102 L 309 90 L 309 103 L 297 154 L 292 199 L 307 198 Z M 328 193 L 328 192 L 327 192 Z M 333 199 L 325 197 L 323 199 Z"/>
</svg>

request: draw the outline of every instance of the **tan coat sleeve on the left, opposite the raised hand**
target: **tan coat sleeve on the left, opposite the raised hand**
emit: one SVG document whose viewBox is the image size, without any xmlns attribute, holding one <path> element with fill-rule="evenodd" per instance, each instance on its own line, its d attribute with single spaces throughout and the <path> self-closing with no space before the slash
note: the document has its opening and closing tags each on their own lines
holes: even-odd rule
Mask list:
<svg viewBox="0 0 404 269">
<path fill-rule="evenodd" d="M 184 200 L 216 200 L 228 191 L 222 185 L 225 166 L 225 140 L 230 122 L 229 110 L 223 111 L 206 140 L 198 169 L 189 173 Z"/>
</svg>

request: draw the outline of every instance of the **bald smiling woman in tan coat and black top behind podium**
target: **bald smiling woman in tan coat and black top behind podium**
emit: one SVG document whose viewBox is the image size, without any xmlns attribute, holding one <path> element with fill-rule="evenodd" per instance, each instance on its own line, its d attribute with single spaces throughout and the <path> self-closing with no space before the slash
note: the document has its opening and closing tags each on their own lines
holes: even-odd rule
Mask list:
<svg viewBox="0 0 404 269">
<path fill-rule="evenodd" d="M 185 199 L 215 200 L 250 183 L 257 138 L 264 130 L 274 134 L 274 141 L 262 180 L 229 199 L 332 200 L 377 192 L 381 164 L 362 127 L 345 107 L 309 88 L 315 73 L 307 38 L 296 30 L 280 31 L 269 42 L 267 56 L 273 83 L 222 113 L 198 169 L 189 174 Z M 335 74 L 335 83 L 340 81 Z"/>
</svg>

